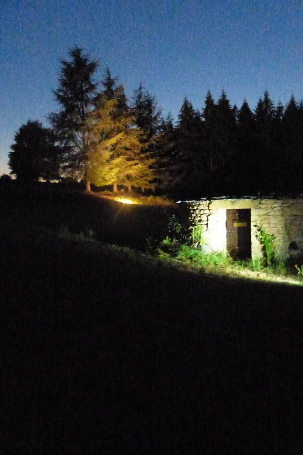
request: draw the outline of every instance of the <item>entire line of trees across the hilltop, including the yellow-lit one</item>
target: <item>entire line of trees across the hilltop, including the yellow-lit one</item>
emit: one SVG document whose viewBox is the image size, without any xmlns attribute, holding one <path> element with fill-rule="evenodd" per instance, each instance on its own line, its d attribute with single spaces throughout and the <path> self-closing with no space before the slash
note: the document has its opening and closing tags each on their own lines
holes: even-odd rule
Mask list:
<svg viewBox="0 0 303 455">
<path fill-rule="evenodd" d="M 9 166 L 17 179 L 55 177 L 155 190 L 185 199 L 257 193 L 303 193 L 303 103 L 277 106 L 268 92 L 253 111 L 231 107 L 222 90 L 207 93 L 201 111 L 185 98 L 176 122 L 162 117 L 140 83 L 129 102 L 109 69 L 97 83 L 98 62 L 76 47 L 61 60 L 58 112 L 52 128 L 28 120 L 15 134 Z"/>
</svg>

